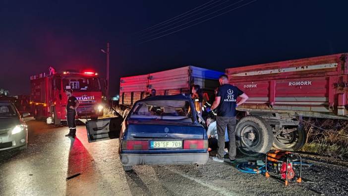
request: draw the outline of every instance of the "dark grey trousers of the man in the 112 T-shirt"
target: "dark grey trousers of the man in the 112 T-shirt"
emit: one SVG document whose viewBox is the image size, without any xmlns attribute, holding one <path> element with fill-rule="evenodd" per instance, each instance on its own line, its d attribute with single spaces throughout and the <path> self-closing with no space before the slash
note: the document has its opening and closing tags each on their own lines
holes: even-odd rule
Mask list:
<svg viewBox="0 0 348 196">
<path fill-rule="evenodd" d="M 225 149 L 225 131 L 227 127 L 227 132 L 229 134 L 230 146 L 229 146 L 229 157 L 230 159 L 234 159 L 236 155 L 236 146 L 235 146 L 235 117 L 217 117 L 216 118 L 216 126 L 218 128 L 218 158 L 224 157 L 224 149 Z"/>
</svg>

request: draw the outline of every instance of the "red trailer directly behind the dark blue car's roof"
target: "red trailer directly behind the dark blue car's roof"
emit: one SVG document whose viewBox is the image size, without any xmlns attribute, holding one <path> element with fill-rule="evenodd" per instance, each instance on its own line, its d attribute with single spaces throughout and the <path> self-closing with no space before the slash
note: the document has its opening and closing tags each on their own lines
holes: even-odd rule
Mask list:
<svg viewBox="0 0 348 196">
<path fill-rule="evenodd" d="M 191 85 L 198 84 L 209 97 L 219 86 L 218 78 L 224 73 L 196 66 L 135 75 L 120 78 L 119 103 L 132 105 L 145 98 L 151 89 L 157 95 L 176 95 L 190 93 Z"/>
</svg>

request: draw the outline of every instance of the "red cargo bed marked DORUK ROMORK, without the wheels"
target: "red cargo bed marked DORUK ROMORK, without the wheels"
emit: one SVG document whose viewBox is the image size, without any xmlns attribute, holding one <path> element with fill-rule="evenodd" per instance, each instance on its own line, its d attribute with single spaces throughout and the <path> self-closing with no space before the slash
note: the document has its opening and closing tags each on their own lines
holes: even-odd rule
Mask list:
<svg viewBox="0 0 348 196">
<path fill-rule="evenodd" d="M 348 118 L 347 54 L 226 69 L 250 98 L 240 111 Z"/>
</svg>

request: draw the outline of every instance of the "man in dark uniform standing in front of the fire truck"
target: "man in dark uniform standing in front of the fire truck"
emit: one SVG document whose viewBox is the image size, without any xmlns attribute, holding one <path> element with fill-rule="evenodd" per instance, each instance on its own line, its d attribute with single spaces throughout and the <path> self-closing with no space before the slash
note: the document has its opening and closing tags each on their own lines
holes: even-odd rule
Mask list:
<svg viewBox="0 0 348 196">
<path fill-rule="evenodd" d="M 77 101 L 76 97 L 72 96 L 72 90 L 66 89 L 65 94 L 68 97 L 66 103 L 66 120 L 69 127 L 69 133 L 65 135 L 65 137 L 73 137 L 76 136 L 76 124 L 75 124 L 75 109 L 80 105 Z"/>
</svg>

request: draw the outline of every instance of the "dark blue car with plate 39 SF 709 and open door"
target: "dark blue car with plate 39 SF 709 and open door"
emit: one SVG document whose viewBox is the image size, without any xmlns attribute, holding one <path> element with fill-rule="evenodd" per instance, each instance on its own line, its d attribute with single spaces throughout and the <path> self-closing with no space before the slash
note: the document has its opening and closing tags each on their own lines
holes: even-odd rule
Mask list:
<svg viewBox="0 0 348 196">
<path fill-rule="evenodd" d="M 88 121 L 88 141 L 119 136 L 119 158 L 125 171 L 135 165 L 205 164 L 208 138 L 199 117 L 190 97 L 149 97 L 135 102 L 125 119 L 119 115 Z"/>
</svg>

